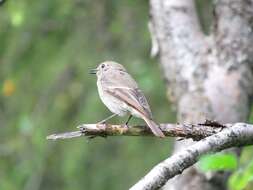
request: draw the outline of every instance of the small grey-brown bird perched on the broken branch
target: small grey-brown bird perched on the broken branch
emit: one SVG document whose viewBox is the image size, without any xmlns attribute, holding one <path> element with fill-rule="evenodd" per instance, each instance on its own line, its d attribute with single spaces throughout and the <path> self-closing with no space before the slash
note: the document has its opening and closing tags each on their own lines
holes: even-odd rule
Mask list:
<svg viewBox="0 0 253 190">
<path fill-rule="evenodd" d="M 125 116 L 130 113 L 126 125 L 133 115 L 142 118 L 155 136 L 165 137 L 159 126 L 153 121 L 144 94 L 121 64 L 106 61 L 99 64 L 96 69 L 92 69 L 90 73 L 97 75 L 99 96 L 107 108 L 114 113 L 101 121 L 102 123 L 116 115 Z"/>
</svg>

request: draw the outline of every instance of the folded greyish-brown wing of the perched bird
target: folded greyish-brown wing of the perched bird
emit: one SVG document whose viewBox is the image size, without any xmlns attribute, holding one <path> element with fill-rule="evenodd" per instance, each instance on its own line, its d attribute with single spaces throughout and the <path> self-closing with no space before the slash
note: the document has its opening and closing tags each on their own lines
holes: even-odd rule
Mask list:
<svg viewBox="0 0 253 190">
<path fill-rule="evenodd" d="M 145 117 L 152 119 L 148 102 L 139 88 L 133 89 L 129 87 L 108 86 L 104 90 L 115 98 L 125 102 L 128 106 L 131 106 L 135 110 L 139 111 Z"/>
</svg>

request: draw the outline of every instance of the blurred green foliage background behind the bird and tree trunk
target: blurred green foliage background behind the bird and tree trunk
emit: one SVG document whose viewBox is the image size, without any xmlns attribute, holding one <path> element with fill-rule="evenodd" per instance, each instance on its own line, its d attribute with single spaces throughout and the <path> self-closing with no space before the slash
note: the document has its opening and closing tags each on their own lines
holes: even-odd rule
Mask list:
<svg viewBox="0 0 253 190">
<path fill-rule="evenodd" d="M 199 3 L 199 12 L 207 5 Z M 110 115 L 95 76 L 88 74 L 105 60 L 122 63 L 134 76 L 156 121 L 176 122 L 158 61 L 150 58 L 148 13 L 146 0 L 23 0 L 0 6 L 0 189 L 127 189 L 168 157 L 169 138 L 46 140 Z M 208 21 L 202 14 L 204 29 Z M 245 149 L 242 166 L 252 159 L 251 149 Z M 247 177 L 253 176 L 252 166 L 246 167 Z"/>
</svg>

